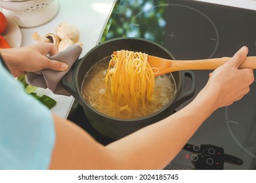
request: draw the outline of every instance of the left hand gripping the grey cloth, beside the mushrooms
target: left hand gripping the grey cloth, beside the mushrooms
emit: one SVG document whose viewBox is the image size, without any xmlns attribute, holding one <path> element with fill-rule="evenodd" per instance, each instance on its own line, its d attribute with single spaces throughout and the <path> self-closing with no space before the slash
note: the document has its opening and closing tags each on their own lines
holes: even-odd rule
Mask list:
<svg viewBox="0 0 256 183">
<path fill-rule="evenodd" d="M 66 63 L 47 58 L 47 55 L 52 56 L 57 53 L 58 51 L 51 43 L 39 43 L 32 46 L 1 50 L 1 56 L 5 59 L 5 64 L 14 76 L 42 69 L 66 71 L 68 69 Z"/>
</svg>

